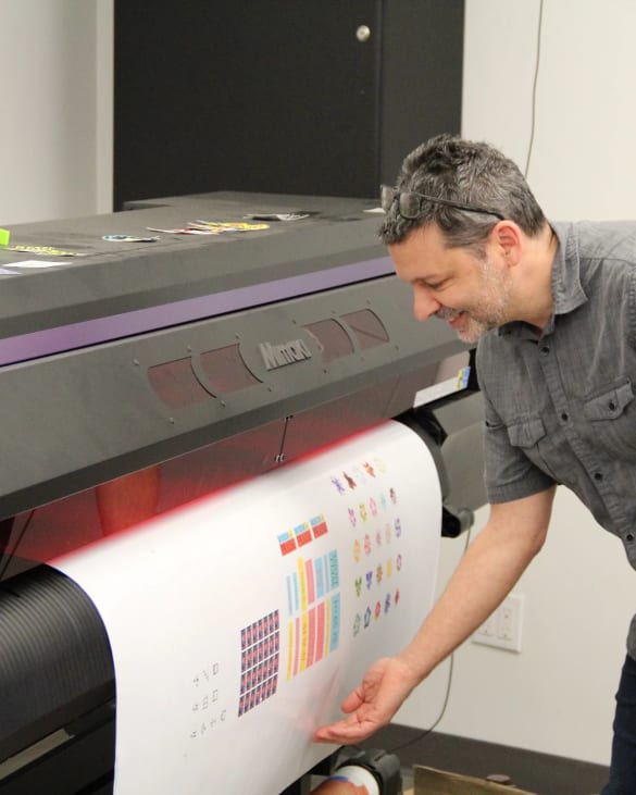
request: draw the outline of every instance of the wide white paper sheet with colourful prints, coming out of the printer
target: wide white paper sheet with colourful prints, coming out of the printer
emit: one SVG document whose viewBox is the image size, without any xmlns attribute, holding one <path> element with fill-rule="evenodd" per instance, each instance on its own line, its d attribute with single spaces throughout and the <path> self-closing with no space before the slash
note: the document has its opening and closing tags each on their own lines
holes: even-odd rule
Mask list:
<svg viewBox="0 0 636 795">
<path fill-rule="evenodd" d="M 431 608 L 440 523 L 388 422 L 52 561 L 110 638 L 115 795 L 276 795 L 331 753 L 315 728 Z"/>
</svg>

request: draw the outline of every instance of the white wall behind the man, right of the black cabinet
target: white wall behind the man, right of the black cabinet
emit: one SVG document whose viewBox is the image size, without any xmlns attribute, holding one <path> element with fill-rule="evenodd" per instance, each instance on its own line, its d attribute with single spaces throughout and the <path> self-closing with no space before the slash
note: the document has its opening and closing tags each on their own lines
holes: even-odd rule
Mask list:
<svg viewBox="0 0 636 795">
<path fill-rule="evenodd" d="M 495 144 L 522 170 L 538 11 L 538 0 L 466 0 L 462 132 Z M 528 179 L 549 218 L 636 218 L 634 30 L 632 0 L 545 0 Z M 460 546 L 444 544 L 440 587 Z M 525 597 L 522 653 L 465 644 L 438 731 L 608 763 L 613 693 L 636 611 L 636 573 L 621 545 L 561 489 L 547 546 L 514 592 Z M 445 664 L 398 719 L 429 725 L 447 673 Z"/>
</svg>

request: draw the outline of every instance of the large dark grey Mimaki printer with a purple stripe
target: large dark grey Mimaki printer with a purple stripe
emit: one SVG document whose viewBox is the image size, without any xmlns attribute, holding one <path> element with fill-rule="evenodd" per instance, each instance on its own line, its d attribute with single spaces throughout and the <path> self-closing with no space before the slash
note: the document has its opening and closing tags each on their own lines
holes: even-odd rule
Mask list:
<svg viewBox="0 0 636 795">
<path fill-rule="evenodd" d="M 195 220 L 262 228 L 176 232 Z M 112 792 L 108 638 L 47 560 L 391 418 L 433 454 L 442 533 L 470 525 L 484 504 L 472 353 L 413 319 L 377 225 L 369 200 L 219 192 L 11 229 L 0 792 Z"/>
</svg>

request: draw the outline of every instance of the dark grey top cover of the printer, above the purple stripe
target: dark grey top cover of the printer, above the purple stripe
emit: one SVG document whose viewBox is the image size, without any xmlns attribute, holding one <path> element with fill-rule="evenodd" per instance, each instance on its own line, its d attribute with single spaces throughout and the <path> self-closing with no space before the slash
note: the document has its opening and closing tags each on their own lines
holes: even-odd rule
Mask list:
<svg viewBox="0 0 636 795">
<path fill-rule="evenodd" d="M 137 202 L 112 214 L 13 226 L 11 249 L 0 249 L 1 269 L 24 260 L 54 261 L 58 266 L 0 276 L 0 339 L 290 277 L 313 275 L 304 290 L 311 293 L 321 289 L 315 274 L 325 276 L 324 288 L 329 288 L 331 271 L 336 284 L 391 273 L 377 238 L 378 215 L 369 212 L 376 206 L 370 199 L 217 192 Z M 250 222 L 246 215 L 290 212 L 308 216 L 220 235 L 148 231 L 183 228 L 200 220 Z M 111 241 L 103 239 L 108 235 L 159 239 Z M 12 250 L 18 246 L 82 256 Z M 356 264 L 361 266 L 352 269 Z M 336 277 L 342 266 L 349 270 Z M 299 288 L 298 283 L 292 288 Z M 261 295 L 262 290 L 248 289 L 240 308 L 258 305 Z"/>
</svg>

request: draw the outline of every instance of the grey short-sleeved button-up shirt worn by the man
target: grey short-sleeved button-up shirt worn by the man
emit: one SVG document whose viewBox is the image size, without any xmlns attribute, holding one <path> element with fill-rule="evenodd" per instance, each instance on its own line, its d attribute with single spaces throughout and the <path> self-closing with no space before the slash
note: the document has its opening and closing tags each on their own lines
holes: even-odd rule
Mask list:
<svg viewBox="0 0 636 795">
<path fill-rule="evenodd" d="M 636 222 L 552 228 L 547 328 L 509 323 L 477 347 L 488 499 L 563 484 L 636 568 Z"/>
</svg>

